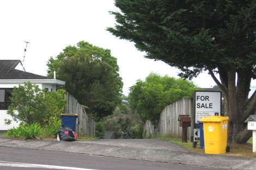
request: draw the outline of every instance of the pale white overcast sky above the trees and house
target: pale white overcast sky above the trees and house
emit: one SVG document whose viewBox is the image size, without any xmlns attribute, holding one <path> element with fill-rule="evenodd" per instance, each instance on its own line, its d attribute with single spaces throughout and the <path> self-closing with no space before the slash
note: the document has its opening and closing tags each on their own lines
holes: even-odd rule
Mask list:
<svg viewBox="0 0 256 170">
<path fill-rule="evenodd" d="M 110 49 L 117 58 L 124 95 L 151 72 L 178 78 L 178 69 L 144 58 L 145 53 L 138 51 L 134 43 L 107 32 L 107 27 L 115 25 L 109 11 L 118 11 L 112 0 L 0 1 L 0 60 L 23 60 L 24 41 L 28 41 L 23 62 L 26 71 L 47 75 L 46 64 L 51 56 L 54 58 L 66 46 L 83 40 Z M 192 81 L 199 87 L 215 85 L 206 72 Z"/>
</svg>

